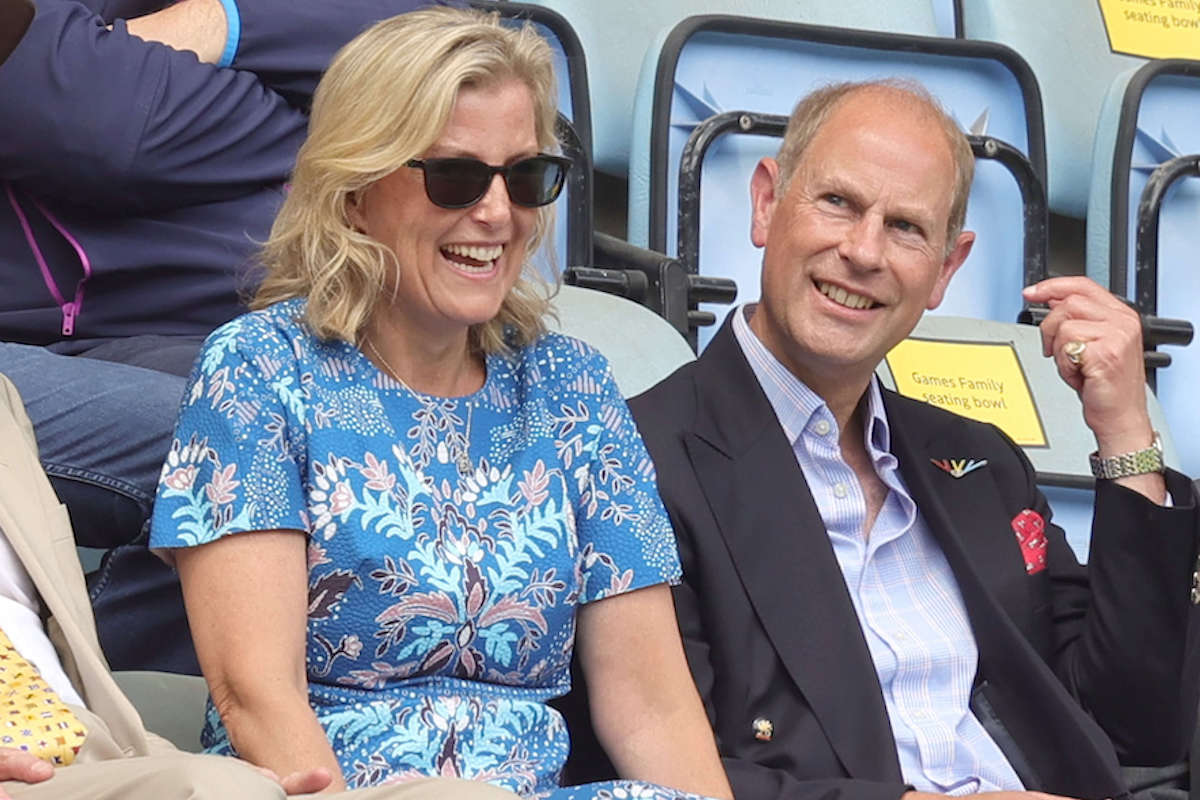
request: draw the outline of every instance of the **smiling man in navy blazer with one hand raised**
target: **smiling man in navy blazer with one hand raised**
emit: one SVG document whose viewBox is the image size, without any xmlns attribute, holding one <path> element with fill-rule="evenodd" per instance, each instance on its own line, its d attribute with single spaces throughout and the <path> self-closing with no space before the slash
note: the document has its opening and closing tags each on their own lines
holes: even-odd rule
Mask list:
<svg viewBox="0 0 1200 800">
<path fill-rule="evenodd" d="M 631 403 L 739 798 L 1120 798 L 1118 759 L 1190 739 L 1195 504 L 1163 469 L 1136 314 L 1086 278 L 1025 290 L 1097 439 L 1087 570 L 1019 447 L 874 377 L 971 251 L 972 173 L 919 86 L 800 101 L 750 186 L 761 300 Z"/>
</svg>

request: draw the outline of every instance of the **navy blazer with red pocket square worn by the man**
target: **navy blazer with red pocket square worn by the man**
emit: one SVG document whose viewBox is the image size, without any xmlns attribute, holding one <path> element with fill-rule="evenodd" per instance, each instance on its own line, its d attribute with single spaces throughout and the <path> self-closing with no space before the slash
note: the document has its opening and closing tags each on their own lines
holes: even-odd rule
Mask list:
<svg viewBox="0 0 1200 800">
<path fill-rule="evenodd" d="M 906 790 L 875 667 L 828 534 L 728 323 L 630 403 L 679 542 L 688 660 L 738 798 Z M 884 392 L 905 483 L 958 579 L 979 648 L 972 708 L 1028 788 L 1118 798 L 1126 764 L 1178 760 L 1195 726 L 1192 485 L 1176 507 L 1097 488 L 1081 567 L 1021 450 L 997 428 Z M 931 459 L 986 458 L 961 479 Z M 1046 521 L 1026 573 L 1012 529 Z M 755 720 L 769 720 L 769 740 Z"/>
</svg>

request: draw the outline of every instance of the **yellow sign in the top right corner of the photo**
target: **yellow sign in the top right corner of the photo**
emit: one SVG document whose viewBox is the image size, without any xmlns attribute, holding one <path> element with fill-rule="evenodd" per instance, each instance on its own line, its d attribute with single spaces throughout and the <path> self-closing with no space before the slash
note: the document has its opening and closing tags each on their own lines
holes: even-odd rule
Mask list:
<svg viewBox="0 0 1200 800">
<path fill-rule="evenodd" d="M 1200 59 L 1200 0 L 1099 0 L 1114 53 Z"/>
</svg>

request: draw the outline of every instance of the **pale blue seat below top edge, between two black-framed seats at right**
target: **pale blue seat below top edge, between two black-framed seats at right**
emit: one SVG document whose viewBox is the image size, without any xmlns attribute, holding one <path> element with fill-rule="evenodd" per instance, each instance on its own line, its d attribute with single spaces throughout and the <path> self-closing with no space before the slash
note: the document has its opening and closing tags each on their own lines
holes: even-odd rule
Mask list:
<svg viewBox="0 0 1200 800">
<path fill-rule="evenodd" d="M 1082 218 L 1104 94 L 1142 59 L 1112 53 L 1096 0 L 958 2 L 967 38 L 1008 44 L 1032 65 L 1045 98 L 1050 209 Z"/>
</svg>

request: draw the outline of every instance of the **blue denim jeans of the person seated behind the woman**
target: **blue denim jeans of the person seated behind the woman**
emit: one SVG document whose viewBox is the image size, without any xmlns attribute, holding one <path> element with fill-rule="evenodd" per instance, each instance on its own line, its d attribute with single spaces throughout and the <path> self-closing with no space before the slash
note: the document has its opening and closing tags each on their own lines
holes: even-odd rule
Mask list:
<svg viewBox="0 0 1200 800">
<path fill-rule="evenodd" d="M 108 551 L 88 585 L 109 663 L 198 673 L 179 579 L 145 546 L 184 378 L 4 342 L 0 372 L 25 402 L 76 542 Z"/>
</svg>

